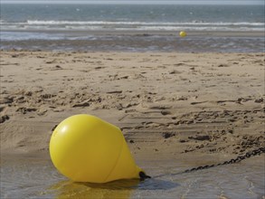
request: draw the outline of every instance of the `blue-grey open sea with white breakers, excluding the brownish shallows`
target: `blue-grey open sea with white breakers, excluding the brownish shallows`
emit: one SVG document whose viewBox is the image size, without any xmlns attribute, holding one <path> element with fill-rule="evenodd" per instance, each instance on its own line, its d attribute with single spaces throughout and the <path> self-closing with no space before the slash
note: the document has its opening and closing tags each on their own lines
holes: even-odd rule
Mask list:
<svg viewBox="0 0 265 199">
<path fill-rule="evenodd" d="M 263 31 L 263 12 L 260 5 L 1 5 L 1 28 Z"/>
</svg>

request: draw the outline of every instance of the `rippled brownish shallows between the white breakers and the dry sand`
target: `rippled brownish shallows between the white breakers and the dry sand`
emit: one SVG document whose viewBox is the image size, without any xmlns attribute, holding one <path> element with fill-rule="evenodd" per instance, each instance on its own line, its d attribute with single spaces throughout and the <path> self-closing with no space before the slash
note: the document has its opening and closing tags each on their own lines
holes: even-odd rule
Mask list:
<svg viewBox="0 0 265 199">
<path fill-rule="evenodd" d="M 75 35 L 77 34 L 77 35 Z M 179 38 L 177 33 L 159 35 L 88 34 L 82 32 L 0 33 L 2 50 L 103 51 L 103 52 L 263 52 L 264 37 L 202 35 Z M 49 38 L 49 39 L 47 39 Z"/>
</svg>

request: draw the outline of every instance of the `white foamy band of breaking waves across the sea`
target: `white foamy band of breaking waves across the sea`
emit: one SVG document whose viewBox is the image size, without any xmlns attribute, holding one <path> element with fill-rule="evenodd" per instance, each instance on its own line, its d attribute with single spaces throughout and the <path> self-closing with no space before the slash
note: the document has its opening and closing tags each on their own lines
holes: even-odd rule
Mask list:
<svg viewBox="0 0 265 199">
<path fill-rule="evenodd" d="M 111 22 L 111 21 L 42 21 L 20 23 L 0 21 L 2 30 L 88 30 L 88 31 L 264 31 L 264 23 L 206 23 L 206 22 Z"/>
</svg>

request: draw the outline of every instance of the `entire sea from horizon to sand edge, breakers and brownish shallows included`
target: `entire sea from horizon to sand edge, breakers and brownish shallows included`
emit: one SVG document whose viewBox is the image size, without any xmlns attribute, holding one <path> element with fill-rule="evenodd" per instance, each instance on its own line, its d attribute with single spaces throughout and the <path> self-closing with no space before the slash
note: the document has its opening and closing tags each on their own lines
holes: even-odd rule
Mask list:
<svg viewBox="0 0 265 199">
<path fill-rule="evenodd" d="M 1 49 L 264 51 L 262 5 L 1 5 L 0 25 Z"/>
</svg>

